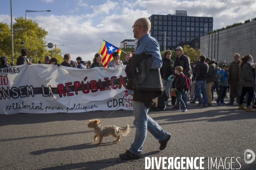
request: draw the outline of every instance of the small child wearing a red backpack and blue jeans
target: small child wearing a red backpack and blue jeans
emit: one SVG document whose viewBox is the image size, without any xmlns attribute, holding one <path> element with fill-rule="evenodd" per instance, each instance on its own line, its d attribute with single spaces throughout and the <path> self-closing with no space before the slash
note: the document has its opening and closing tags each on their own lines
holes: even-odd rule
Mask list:
<svg viewBox="0 0 256 170">
<path fill-rule="evenodd" d="M 177 96 L 177 108 L 175 108 L 175 111 L 180 111 L 180 103 L 183 107 L 183 112 L 187 111 L 186 105 L 184 101 L 182 100 L 182 93 L 184 91 L 184 85 L 186 83 L 186 77 L 182 73 L 183 68 L 181 66 L 175 67 L 175 78 L 172 82 L 172 90 L 175 91 L 175 94 Z"/>
</svg>

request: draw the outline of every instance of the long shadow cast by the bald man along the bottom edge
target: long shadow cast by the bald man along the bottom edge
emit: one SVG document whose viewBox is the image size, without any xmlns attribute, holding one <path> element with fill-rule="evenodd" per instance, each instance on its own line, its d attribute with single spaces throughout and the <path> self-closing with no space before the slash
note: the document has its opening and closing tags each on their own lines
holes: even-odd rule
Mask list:
<svg viewBox="0 0 256 170">
<path fill-rule="evenodd" d="M 160 153 L 160 151 L 153 151 L 149 153 L 142 154 L 140 159 L 133 159 L 130 161 L 144 161 L 144 157 L 148 157 L 151 155 L 156 155 Z M 81 162 L 77 164 L 66 164 L 66 165 L 60 165 L 55 167 L 48 167 L 41 170 L 71 170 L 71 169 L 81 169 L 81 170 L 101 170 L 106 167 L 112 167 L 117 164 L 124 164 L 129 161 L 122 160 L 120 158 L 111 158 L 111 159 L 102 159 L 98 161 L 88 161 L 88 162 Z M 145 163 L 143 163 L 145 164 Z"/>
</svg>

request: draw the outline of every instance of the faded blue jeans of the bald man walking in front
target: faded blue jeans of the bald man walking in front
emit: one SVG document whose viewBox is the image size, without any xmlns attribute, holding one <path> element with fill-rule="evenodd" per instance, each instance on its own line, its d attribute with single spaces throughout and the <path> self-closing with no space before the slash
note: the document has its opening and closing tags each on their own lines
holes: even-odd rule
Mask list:
<svg viewBox="0 0 256 170">
<path fill-rule="evenodd" d="M 133 101 L 134 126 L 136 127 L 134 143 L 131 144 L 130 152 L 140 155 L 142 146 L 147 136 L 147 130 L 158 140 L 164 141 L 169 136 L 157 122 L 148 116 L 148 108 L 143 102 Z"/>
</svg>

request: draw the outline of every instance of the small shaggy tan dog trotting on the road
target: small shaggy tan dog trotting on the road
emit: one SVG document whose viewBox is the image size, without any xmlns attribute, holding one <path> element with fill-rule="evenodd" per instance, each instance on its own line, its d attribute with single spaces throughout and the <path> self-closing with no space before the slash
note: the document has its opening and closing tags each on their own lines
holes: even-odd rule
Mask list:
<svg viewBox="0 0 256 170">
<path fill-rule="evenodd" d="M 128 133 L 130 132 L 130 126 L 127 124 L 126 128 L 121 128 L 117 126 L 102 126 L 99 124 L 100 120 L 99 119 L 93 119 L 90 120 L 88 124 L 89 128 L 93 128 L 93 131 L 95 133 L 94 142 L 96 142 L 97 138 L 99 137 L 99 143 L 97 144 L 102 144 L 102 139 L 105 136 L 112 135 L 116 140 L 114 142 L 120 142 L 120 137 L 121 134 L 123 136 L 127 136 Z"/>
</svg>

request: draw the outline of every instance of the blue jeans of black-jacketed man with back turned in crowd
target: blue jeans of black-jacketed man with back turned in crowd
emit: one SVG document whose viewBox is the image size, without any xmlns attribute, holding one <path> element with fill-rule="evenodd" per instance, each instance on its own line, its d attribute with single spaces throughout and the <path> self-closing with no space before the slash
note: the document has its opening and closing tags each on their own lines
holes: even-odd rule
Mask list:
<svg viewBox="0 0 256 170">
<path fill-rule="evenodd" d="M 201 99 L 201 91 L 203 94 L 204 104 L 208 104 L 207 94 L 206 94 L 206 81 L 195 81 L 195 93 L 198 96 L 199 105 L 203 104 Z"/>
</svg>

